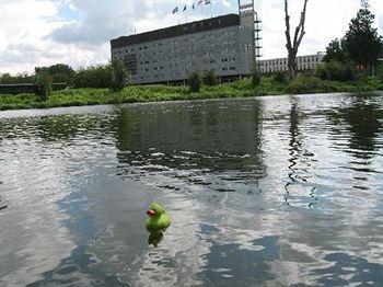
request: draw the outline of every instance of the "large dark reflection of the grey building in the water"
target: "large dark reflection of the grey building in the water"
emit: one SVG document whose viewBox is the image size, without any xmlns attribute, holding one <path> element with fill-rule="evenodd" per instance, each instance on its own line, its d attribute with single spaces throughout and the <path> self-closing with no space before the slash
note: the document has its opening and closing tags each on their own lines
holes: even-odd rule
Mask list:
<svg viewBox="0 0 383 287">
<path fill-rule="evenodd" d="M 241 102 L 223 104 L 167 103 L 121 110 L 116 135 L 119 174 L 136 180 L 148 173 L 163 174 L 206 185 L 210 184 L 207 174 L 232 182 L 263 177 L 259 102 L 243 111 L 239 111 Z"/>
</svg>

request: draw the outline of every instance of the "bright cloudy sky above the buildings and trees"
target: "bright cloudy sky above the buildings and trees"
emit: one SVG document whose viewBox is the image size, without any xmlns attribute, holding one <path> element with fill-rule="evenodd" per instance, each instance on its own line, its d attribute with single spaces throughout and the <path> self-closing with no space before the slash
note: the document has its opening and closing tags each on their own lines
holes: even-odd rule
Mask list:
<svg viewBox="0 0 383 287">
<path fill-rule="evenodd" d="M 105 64 L 112 38 L 237 12 L 237 0 L 212 0 L 211 8 L 193 11 L 197 1 L 0 0 L 0 73 L 33 72 L 58 62 L 76 69 Z M 185 4 L 186 12 L 172 14 Z M 303 0 L 289 0 L 289 5 L 294 28 Z M 370 5 L 383 35 L 383 0 L 370 0 Z M 299 55 L 324 51 L 345 34 L 359 8 L 360 0 L 309 0 Z M 283 0 L 255 0 L 255 9 L 263 21 L 263 59 L 286 57 Z"/>
</svg>

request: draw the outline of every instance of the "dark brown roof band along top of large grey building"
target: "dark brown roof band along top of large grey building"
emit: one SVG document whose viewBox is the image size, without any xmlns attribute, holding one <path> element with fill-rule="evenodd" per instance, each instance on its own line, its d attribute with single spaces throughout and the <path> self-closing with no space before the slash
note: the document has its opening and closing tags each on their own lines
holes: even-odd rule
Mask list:
<svg viewBox="0 0 383 287">
<path fill-rule="evenodd" d="M 197 32 L 205 32 L 221 27 L 240 25 L 241 20 L 239 14 L 228 14 L 223 16 L 206 19 L 197 22 L 186 23 L 182 25 L 154 30 L 141 34 L 123 36 L 111 41 L 112 49 L 121 48 L 129 45 L 141 44 L 150 41 L 158 41 L 169 37 L 176 37 Z"/>
</svg>

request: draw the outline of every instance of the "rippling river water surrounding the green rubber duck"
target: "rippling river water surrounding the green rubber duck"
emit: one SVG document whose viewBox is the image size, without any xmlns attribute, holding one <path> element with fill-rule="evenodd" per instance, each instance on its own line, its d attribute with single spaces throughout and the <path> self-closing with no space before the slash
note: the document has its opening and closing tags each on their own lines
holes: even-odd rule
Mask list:
<svg viewBox="0 0 383 287">
<path fill-rule="evenodd" d="M 382 286 L 382 124 L 383 94 L 1 112 L 0 286 Z"/>
</svg>

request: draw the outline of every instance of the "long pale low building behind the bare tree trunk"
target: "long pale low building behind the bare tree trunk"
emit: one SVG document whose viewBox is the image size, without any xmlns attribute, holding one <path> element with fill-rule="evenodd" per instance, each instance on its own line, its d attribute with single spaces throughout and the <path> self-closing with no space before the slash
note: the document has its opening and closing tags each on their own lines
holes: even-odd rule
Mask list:
<svg viewBox="0 0 383 287">
<path fill-rule="evenodd" d="M 324 53 L 315 55 L 298 56 L 297 68 L 298 71 L 315 70 L 323 61 Z M 259 61 L 259 70 L 262 73 L 286 72 L 288 68 L 288 58 L 267 59 Z"/>
</svg>

